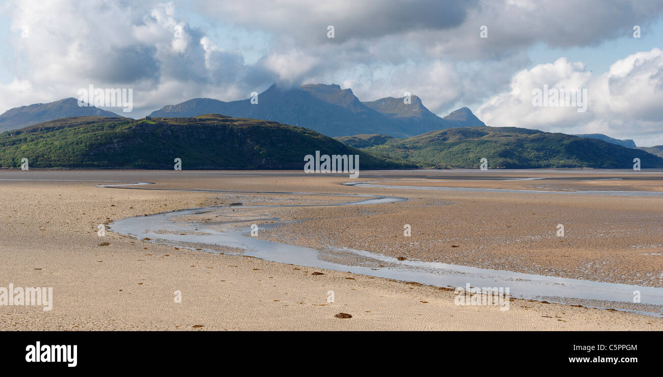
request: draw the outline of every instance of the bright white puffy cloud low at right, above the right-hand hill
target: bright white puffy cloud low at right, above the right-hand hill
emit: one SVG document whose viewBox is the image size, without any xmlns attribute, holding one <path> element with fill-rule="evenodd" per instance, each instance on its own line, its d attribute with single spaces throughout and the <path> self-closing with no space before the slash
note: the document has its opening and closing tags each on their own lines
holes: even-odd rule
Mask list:
<svg viewBox="0 0 663 377">
<path fill-rule="evenodd" d="M 560 58 L 518 72 L 508 91 L 497 93 L 477 110 L 493 127 L 542 131 L 604 133 L 633 138 L 636 144 L 663 144 L 663 51 L 654 48 L 617 60 L 608 72 L 594 76 L 581 62 Z M 534 89 L 587 89 L 587 111 L 577 107 L 534 107 Z"/>
</svg>

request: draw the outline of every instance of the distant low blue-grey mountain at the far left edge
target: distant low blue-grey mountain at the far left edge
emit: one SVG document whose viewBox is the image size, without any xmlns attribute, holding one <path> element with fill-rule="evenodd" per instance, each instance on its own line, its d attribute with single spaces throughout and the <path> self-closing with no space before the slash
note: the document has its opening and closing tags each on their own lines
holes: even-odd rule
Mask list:
<svg viewBox="0 0 663 377">
<path fill-rule="evenodd" d="M 33 103 L 14 107 L 0 115 L 0 132 L 21 129 L 46 121 L 68 117 L 119 117 L 111 111 L 93 106 L 79 106 L 78 99 L 70 97 L 50 103 Z"/>
</svg>

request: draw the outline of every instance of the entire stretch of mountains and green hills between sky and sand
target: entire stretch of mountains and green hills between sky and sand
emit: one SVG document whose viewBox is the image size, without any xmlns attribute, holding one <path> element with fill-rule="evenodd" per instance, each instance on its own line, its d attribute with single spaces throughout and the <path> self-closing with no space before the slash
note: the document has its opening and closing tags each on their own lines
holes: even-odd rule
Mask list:
<svg viewBox="0 0 663 377">
<path fill-rule="evenodd" d="M 408 99 L 362 102 L 339 85 L 274 84 L 256 104 L 198 98 L 134 120 L 66 98 L 0 115 L 0 131 L 15 130 L 0 134 L 0 166 L 27 157 L 34 167 L 172 168 L 175 157 L 164 156 L 178 154 L 191 169 L 300 169 L 320 150 L 360 154 L 361 168 L 477 168 L 481 158 L 490 168 L 631 168 L 636 157 L 663 168 L 663 146 L 487 127 L 467 107 L 438 117 Z"/>
</svg>

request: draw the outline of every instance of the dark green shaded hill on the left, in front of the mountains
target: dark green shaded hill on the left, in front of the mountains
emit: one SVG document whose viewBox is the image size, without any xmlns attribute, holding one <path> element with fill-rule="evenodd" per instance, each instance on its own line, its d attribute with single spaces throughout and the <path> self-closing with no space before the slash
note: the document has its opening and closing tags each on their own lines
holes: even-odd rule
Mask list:
<svg viewBox="0 0 663 377">
<path fill-rule="evenodd" d="M 218 114 L 194 118 L 73 117 L 0 134 L 0 167 L 294 169 L 304 156 L 359 154 L 359 168 L 414 168 L 345 146 L 315 131 Z"/>
</svg>

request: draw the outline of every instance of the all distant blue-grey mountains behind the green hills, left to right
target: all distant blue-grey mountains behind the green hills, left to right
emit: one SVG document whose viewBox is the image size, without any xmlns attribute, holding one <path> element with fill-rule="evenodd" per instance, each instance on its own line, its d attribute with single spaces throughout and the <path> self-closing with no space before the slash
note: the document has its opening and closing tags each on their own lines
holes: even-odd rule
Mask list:
<svg viewBox="0 0 663 377">
<path fill-rule="evenodd" d="M 386 135 L 402 138 L 453 127 L 486 126 L 467 107 L 461 107 L 441 118 L 426 109 L 416 95 L 410 97 L 410 103 L 405 103 L 404 97 L 362 102 L 352 89 L 341 89 L 335 84 L 302 85 L 286 89 L 274 84 L 258 95 L 257 99 L 259 102 L 256 105 L 251 104 L 250 99 L 231 102 L 208 98 L 190 99 L 178 105 L 166 105 L 153 111 L 150 116 L 196 117 L 219 113 L 306 127 L 329 136 Z M 70 97 L 9 109 L 0 115 L 0 132 L 80 116 L 119 117 L 97 107 L 80 107 L 78 100 Z M 633 140 L 628 139 L 619 140 L 602 134 L 575 136 L 597 138 L 636 148 Z"/>
</svg>

